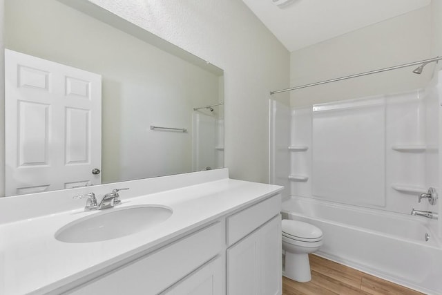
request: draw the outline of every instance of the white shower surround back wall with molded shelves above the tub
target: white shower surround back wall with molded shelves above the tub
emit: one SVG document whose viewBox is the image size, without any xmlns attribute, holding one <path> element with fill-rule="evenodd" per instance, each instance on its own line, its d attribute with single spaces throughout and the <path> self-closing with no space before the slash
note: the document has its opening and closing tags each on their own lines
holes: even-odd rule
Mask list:
<svg viewBox="0 0 442 295">
<path fill-rule="evenodd" d="M 438 211 L 417 202 L 428 187 L 439 188 L 438 106 L 428 88 L 292 108 L 289 194 L 407 214 Z"/>
</svg>

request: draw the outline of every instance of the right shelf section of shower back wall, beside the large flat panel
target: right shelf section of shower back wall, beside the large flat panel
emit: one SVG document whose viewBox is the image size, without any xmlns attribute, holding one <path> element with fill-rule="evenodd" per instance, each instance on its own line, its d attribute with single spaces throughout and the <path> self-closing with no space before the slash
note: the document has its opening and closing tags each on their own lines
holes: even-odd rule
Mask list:
<svg viewBox="0 0 442 295">
<path fill-rule="evenodd" d="M 410 213 L 427 209 L 417 202 L 427 191 L 425 179 L 425 91 L 389 95 L 387 102 L 387 208 Z"/>
</svg>

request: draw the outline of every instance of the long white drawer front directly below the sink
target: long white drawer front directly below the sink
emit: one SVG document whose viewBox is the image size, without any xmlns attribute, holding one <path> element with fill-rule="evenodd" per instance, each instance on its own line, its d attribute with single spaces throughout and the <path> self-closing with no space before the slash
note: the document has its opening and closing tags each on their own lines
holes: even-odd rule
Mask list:
<svg viewBox="0 0 442 295">
<path fill-rule="evenodd" d="M 223 244 L 222 224 L 216 222 L 70 294 L 158 294 L 219 254 Z"/>
</svg>

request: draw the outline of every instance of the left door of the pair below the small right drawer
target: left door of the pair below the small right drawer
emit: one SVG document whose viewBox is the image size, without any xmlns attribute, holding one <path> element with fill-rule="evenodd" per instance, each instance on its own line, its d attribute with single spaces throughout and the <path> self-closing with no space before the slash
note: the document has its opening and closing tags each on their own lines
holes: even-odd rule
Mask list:
<svg viewBox="0 0 442 295">
<path fill-rule="evenodd" d="M 256 295 L 260 276 L 260 231 L 227 249 L 227 295 Z"/>
</svg>

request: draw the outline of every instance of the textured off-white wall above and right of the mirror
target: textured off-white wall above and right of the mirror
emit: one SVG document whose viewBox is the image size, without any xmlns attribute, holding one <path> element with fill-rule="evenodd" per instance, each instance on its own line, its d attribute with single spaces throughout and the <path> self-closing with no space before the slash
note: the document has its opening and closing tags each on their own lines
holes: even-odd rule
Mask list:
<svg viewBox="0 0 442 295">
<path fill-rule="evenodd" d="M 268 181 L 269 91 L 289 86 L 289 53 L 240 0 L 93 0 L 224 69 L 225 164 Z M 124 3 L 124 4 L 123 4 Z"/>
</svg>

